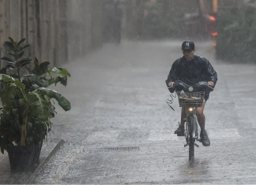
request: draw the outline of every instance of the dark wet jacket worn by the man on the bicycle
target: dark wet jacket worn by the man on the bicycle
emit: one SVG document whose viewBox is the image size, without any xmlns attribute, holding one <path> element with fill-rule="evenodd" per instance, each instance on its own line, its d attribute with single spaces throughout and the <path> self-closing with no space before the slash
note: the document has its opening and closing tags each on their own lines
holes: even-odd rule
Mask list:
<svg viewBox="0 0 256 185">
<path fill-rule="evenodd" d="M 205 81 L 213 81 L 216 85 L 217 74 L 210 62 L 204 57 L 194 55 L 190 61 L 186 61 L 185 57 L 180 57 L 171 66 L 166 85 L 175 80 L 181 80 L 188 85 Z"/>
</svg>

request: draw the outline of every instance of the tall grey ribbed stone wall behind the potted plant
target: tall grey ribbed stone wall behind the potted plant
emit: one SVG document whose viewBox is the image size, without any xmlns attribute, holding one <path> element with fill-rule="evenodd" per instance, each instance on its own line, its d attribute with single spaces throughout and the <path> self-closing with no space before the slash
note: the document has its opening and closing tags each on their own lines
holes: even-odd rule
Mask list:
<svg viewBox="0 0 256 185">
<path fill-rule="evenodd" d="M 27 39 L 28 56 L 60 64 L 102 43 L 101 0 L 0 0 L 0 51 L 8 36 Z"/>
</svg>

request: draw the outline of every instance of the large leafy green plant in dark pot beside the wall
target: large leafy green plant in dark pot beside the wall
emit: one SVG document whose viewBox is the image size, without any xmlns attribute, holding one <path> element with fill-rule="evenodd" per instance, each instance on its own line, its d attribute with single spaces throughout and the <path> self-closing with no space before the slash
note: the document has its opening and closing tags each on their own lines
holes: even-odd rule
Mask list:
<svg viewBox="0 0 256 185">
<path fill-rule="evenodd" d="M 12 172 L 29 169 L 39 160 L 43 139 L 51 131 L 51 118 L 55 117 L 53 99 L 62 109 L 71 109 L 70 102 L 50 88 L 51 84 L 66 86 L 70 73 L 66 68 L 48 68 L 49 62 L 22 58 L 29 46 L 21 46 L 25 39 L 4 43 L 7 63 L 0 70 L 2 108 L 0 113 L 0 147 L 7 150 Z M 29 64 L 34 64 L 32 70 Z M 26 72 L 24 72 L 26 69 Z"/>
</svg>

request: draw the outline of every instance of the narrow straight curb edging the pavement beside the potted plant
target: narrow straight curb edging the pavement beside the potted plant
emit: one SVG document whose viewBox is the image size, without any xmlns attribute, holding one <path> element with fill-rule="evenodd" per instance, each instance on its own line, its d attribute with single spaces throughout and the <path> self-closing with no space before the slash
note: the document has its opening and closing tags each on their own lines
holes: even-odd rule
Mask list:
<svg viewBox="0 0 256 185">
<path fill-rule="evenodd" d="M 32 182 L 32 179 L 34 179 L 34 177 L 36 176 L 36 174 L 38 172 L 40 172 L 40 170 L 47 165 L 47 162 L 50 161 L 51 157 L 58 151 L 58 149 L 65 143 L 65 141 L 63 139 L 60 139 L 60 141 L 58 142 L 58 144 L 54 147 L 53 150 L 51 150 L 51 153 L 48 154 L 47 157 L 44 158 L 44 160 L 40 163 L 40 165 L 36 168 L 36 170 L 34 172 L 32 172 L 32 175 L 28 178 L 28 180 L 24 183 L 24 184 L 29 184 Z"/>
</svg>

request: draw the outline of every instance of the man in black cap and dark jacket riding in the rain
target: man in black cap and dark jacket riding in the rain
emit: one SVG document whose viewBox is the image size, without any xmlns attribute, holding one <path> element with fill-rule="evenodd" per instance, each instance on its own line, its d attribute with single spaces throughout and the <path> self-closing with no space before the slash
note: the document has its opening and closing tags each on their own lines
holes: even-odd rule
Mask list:
<svg viewBox="0 0 256 185">
<path fill-rule="evenodd" d="M 209 86 L 215 87 L 217 81 L 216 71 L 210 62 L 205 57 L 194 55 L 195 47 L 192 41 L 185 41 L 182 44 L 183 57 L 177 59 L 171 66 L 168 79 L 165 81 L 168 87 L 173 87 L 176 80 L 183 81 L 188 85 L 193 86 L 201 81 L 208 82 Z M 171 93 L 173 89 L 169 89 Z M 210 146 L 209 137 L 205 131 L 205 115 L 203 113 L 205 102 L 209 98 L 209 93 L 205 94 L 204 102 L 201 107 L 196 109 L 198 124 L 201 128 L 201 142 L 203 146 Z M 179 128 L 175 131 L 178 136 L 184 135 L 184 124 L 186 119 L 186 109 L 182 108 L 181 122 Z"/>
</svg>

